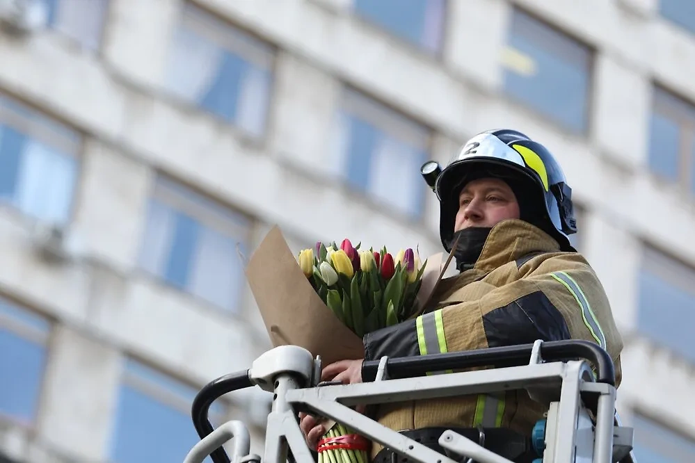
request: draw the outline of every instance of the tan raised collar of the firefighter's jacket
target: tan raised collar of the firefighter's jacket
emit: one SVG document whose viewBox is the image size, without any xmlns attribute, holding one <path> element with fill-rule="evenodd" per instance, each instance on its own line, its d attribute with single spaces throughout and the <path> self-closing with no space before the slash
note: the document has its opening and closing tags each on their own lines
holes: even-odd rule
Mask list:
<svg viewBox="0 0 695 463">
<path fill-rule="evenodd" d="M 517 219 L 502 220 L 490 230 L 473 268 L 490 272 L 534 252 L 559 250 L 559 243 L 535 225 Z"/>
</svg>

